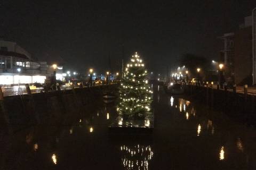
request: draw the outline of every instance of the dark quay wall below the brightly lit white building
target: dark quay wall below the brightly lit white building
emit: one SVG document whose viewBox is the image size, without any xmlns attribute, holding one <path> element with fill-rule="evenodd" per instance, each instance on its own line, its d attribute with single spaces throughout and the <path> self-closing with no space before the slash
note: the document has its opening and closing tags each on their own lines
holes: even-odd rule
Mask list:
<svg viewBox="0 0 256 170">
<path fill-rule="evenodd" d="M 85 112 L 86 106 L 102 102 L 103 94 L 115 91 L 117 87 L 117 84 L 111 84 L 0 96 L 0 135 L 15 133 L 33 125 L 70 124 Z"/>
</svg>

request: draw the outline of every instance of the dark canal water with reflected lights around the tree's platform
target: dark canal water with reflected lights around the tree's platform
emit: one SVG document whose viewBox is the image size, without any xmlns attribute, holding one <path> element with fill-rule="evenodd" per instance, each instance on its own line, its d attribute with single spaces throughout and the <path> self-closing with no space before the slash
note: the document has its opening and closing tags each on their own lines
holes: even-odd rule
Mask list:
<svg viewBox="0 0 256 170">
<path fill-rule="evenodd" d="M 70 125 L 41 125 L 1 145 L 2 169 L 256 169 L 256 130 L 182 96 L 154 92 L 150 135 L 110 135 L 114 106 Z"/>
</svg>

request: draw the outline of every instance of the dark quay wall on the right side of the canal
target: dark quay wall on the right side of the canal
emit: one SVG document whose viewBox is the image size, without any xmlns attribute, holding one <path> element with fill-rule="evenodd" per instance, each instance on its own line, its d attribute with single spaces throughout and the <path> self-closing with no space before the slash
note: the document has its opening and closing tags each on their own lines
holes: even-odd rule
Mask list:
<svg viewBox="0 0 256 170">
<path fill-rule="evenodd" d="M 256 124 L 255 95 L 191 84 L 185 86 L 185 93 L 212 109 L 225 112 L 228 116 L 239 121 L 246 124 Z"/>
</svg>

